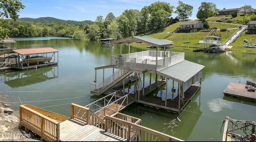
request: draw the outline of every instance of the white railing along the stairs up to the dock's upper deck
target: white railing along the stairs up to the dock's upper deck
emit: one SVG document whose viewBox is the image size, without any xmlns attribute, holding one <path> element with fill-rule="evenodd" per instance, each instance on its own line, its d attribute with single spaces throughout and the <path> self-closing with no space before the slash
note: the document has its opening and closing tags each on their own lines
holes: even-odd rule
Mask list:
<svg viewBox="0 0 256 142">
<path fill-rule="evenodd" d="M 133 61 L 133 60 L 131 60 Z M 108 76 L 106 79 L 104 79 L 104 81 L 102 81 L 101 83 L 97 84 L 97 83 L 93 83 L 95 85 L 97 85 L 98 87 L 95 87 L 94 90 L 91 89 L 91 91 L 97 92 L 99 93 L 100 91 L 104 90 L 106 87 L 108 87 L 109 85 L 111 85 L 112 83 L 114 83 L 116 80 L 118 80 L 120 77 L 122 77 L 122 75 L 128 73 L 128 71 L 130 71 L 130 62 L 124 62 L 124 65 L 118 69 L 117 71 L 115 71 L 114 73 L 112 73 L 112 75 Z M 117 76 L 115 76 L 117 75 Z M 112 81 L 111 81 L 112 80 Z M 92 84 L 92 83 L 91 83 Z"/>
</svg>

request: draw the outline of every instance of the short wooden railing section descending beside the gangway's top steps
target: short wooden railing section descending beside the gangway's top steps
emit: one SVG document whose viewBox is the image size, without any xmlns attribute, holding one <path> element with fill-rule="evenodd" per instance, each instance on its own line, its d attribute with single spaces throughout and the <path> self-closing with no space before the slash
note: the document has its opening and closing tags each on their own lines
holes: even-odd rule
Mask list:
<svg viewBox="0 0 256 142">
<path fill-rule="evenodd" d="M 89 108 L 72 103 L 70 116 L 72 119 L 76 118 L 86 124 L 104 129 L 104 120 L 96 116 Z"/>
</svg>

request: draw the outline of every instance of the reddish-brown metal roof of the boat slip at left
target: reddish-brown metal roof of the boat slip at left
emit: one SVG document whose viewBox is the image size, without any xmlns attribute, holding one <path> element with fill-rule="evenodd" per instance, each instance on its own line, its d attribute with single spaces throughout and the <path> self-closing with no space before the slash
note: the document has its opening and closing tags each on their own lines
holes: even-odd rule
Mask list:
<svg viewBox="0 0 256 142">
<path fill-rule="evenodd" d="M 44 48 L 12 49 L 10 51 L 6 51 L 5 53 L 18 53 L 20 55 L 30 55 L 30 54 L 40 54 L 40 53 L 52 53 L 52 52 L 58 52 L 58 50 L 53 49 L 52 47 L 44 47 Z"/>
</svg>

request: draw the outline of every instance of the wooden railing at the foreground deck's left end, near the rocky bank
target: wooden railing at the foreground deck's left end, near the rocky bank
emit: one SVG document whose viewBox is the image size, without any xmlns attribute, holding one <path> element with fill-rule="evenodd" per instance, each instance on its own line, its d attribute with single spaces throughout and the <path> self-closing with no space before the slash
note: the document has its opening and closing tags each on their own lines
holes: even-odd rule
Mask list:
<svg viewBox="0 0 256 142">
<path fill-rule="evenodd" d="M 60 141 L 60 123 L 25 105 L 20 105 L 20 124 L 46 141 Z"/>
</svg>

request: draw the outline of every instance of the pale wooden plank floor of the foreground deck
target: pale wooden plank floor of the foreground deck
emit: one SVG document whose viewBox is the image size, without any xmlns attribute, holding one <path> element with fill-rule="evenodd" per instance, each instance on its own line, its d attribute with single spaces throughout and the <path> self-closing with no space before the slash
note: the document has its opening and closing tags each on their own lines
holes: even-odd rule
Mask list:
<svg viewBox="0 0 256 142">
<path fill-rule="evenodd" d="M 75 119 L 60 123 L 60 141 L 127 141 L 93 125 Z"/>
</svg>

